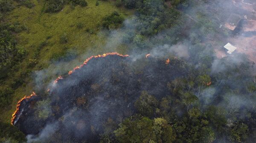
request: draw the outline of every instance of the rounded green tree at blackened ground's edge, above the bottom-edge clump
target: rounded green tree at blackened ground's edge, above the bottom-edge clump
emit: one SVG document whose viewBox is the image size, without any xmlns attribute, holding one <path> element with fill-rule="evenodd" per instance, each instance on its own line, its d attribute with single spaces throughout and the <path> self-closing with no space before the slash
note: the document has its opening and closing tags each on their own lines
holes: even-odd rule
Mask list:
<svg viewBox="0 0 256 143">
<path fill-rule="evenodd" d="M 149 95 L 147 91 L 142 91 L 140 98 L 137 99 L 134 106 L 142 114 L 148 117 L 154 115 L 158 101 L 154 96 Z"/>
</svg>

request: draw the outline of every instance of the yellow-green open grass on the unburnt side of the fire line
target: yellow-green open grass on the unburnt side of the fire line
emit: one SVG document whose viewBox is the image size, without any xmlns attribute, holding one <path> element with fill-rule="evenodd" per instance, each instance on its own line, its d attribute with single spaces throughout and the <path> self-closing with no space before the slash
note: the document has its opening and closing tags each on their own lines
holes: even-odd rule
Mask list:
<svg viewBox="0 0 256 143">
<path fill-rule="evenodd" d="M 114 50 L 119 53 L 126 53 L 126 47 L 123 45 L 117 48 L 104 48 L 107 38 L 104 32 L 100 32 L 102 31 L 101 23 L 102 18 L 113 11 L 118 11 L 124 17 L 133 14 L 133 11 L 117 8 L 114 1 L 100 1 L 99 6 L 96 6 L 96 0 L 87 0 L 88 6 L 86 7 L 76 6 L 75 9 L 72 9 L 70 5 L 66 5 L 58 13 L 44 13 L 44 0 L 32 0 L 32 2 L 35 4 L 33 8 L 16 7 L 6 16 L 7 21 L 20 22 L 26 27 L 26 30 L 16 34 L 18 46 L 24 47 L 28 52 L 26 59 L 18 65 L 19 70 L 16 74 L 27 70 L 28 59 L 36 58 L 38 60 L 38 65 L 32 68 L 32 71 L 47 69 L 48 72 L 54 73 L 53 70 L 62 70 L 62 72 L 71 70 L 77 64 L 81 64 L 89 54 L 96 55 Z M 80 26 L 77 26 L 78 24 Z M 68 39 L 65 44 L 60 42 L 60 37 L 63 34 L 66 34 Z M 40 43 L 44 41 L 47 41 L 48 44 L 43 46 L 38 56 L 35 57 L 34 53 L 37 52 Z M 67 49 L 77 51 L 80 56 L 66 64 L 65 68 L 49 64 L 54 54 L 58 55 Z M 53 76 L 50 76 L 45 84 L 55 78 Z M 30 95 L 33 91 L 34 80 L 29 76 L 25 81 L 22 86 L 15 90 L 10 108 L 0 110 L 0 121 L 9 123 L 17 101 L 24 95 Z M 6 84 L 10 82 L 12 79 L 6 79 Z"/>
</svg>

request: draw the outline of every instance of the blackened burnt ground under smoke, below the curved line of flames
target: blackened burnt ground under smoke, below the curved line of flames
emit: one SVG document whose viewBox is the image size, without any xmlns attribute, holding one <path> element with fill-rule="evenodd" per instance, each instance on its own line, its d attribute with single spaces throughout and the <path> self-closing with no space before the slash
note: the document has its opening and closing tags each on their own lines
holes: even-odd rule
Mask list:
<svg viewBox="0 0 256 143">
<path fill-rule="evenodd" d="M 169 81 L 188 75 L 186 64 L 177 58 L 169 64 L 152 57 L 131 60 L 116 55 L 91 59 L 52 85 L 47 95 L 51 101 L 48 118 L 36 114 L 35 100 L 46 98 L 37 93 L 37 98 L 21 105 L 23 112 L 15 126 L 26 135 L 40 135 L 47 125 L 57 123 L 53 138 L 96 143 L 109 119 L 118 123 L 135 112 L 134 102 L 141 91 L 160 99 L 170 94 Z"/>
</svg>

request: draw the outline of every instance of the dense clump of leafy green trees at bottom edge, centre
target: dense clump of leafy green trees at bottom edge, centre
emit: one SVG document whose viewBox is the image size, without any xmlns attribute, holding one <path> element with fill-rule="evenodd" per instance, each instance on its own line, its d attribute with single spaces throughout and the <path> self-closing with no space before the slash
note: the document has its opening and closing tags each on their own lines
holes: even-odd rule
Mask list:
<svg viewBox="0 0 256 143">
<path fill-rule="evenodd" d="M 119 143 L 172 143 L 176 135 L 163 118 L 126 119 L 114 131 Z"/>
</svg>

